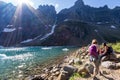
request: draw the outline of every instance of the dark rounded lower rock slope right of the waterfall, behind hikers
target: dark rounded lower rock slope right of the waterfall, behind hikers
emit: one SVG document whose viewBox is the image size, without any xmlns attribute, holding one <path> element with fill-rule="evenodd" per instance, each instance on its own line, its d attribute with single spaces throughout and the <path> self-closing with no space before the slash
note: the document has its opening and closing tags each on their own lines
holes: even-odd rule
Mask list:
<svg viewBox="0 0 120 80">
<path fill-rule="evenodd" d="M 93 25 L 81 21 L 64 21 L 56 26 L 54 34 L 44 40 L 41 45 L 83 46 L 90 44 L 94 38 L 99 43 L 116 42 L 116 40 L 120 40 L 119 30 L 118 25 Z"/>
</svg>

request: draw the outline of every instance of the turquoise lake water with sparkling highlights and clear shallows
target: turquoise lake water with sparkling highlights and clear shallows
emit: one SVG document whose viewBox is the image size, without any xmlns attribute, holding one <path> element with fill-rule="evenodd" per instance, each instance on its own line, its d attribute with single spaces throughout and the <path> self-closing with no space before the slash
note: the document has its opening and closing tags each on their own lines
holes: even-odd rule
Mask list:
<svg viewBox="0 0 120 80">
<path fill-rule="evenodd" d="M 0 80 L 20 79 L 40 73 L 43 63 L 64 56 L 76 47 L 22 47 L 0 49 Z"/>
</svg>

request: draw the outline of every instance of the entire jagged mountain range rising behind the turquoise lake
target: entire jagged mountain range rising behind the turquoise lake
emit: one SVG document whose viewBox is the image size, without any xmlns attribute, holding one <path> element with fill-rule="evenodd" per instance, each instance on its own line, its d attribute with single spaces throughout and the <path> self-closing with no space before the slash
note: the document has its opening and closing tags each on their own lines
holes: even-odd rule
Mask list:
<svg viewBox="0 0 120 80">
<path fill-rule="evenodd" d="M 83 0 L 77 0 L 58 14 L 48 5 L 34 9 L 23 4 L 21 13 L 16 12 L 18 7 L 0 2 L 0 45 L 79 46 L 90 43 L 93 38 L 99 42 L 120 40 L 120 7 L 94 8 L 85 5 Z"/>
</svg>

